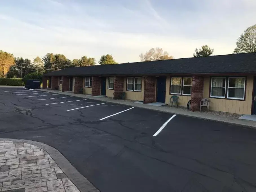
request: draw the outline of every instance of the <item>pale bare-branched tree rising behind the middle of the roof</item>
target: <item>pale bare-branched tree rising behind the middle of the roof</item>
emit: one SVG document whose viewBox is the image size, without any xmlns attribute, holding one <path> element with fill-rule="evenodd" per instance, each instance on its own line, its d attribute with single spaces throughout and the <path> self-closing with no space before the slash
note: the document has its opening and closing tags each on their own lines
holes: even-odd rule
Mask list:
<svg viewBox="0 0 256 192">
<path fill-rule="evenodd" d="M 140 54 L 140 61 L 158 61 L 158 60 L 167 60 L 173 59 L 173 56 L 169 56 L 168 52 L 163 51 L 162 48 L 151 48 L 145 54 Z"/>
</svg>

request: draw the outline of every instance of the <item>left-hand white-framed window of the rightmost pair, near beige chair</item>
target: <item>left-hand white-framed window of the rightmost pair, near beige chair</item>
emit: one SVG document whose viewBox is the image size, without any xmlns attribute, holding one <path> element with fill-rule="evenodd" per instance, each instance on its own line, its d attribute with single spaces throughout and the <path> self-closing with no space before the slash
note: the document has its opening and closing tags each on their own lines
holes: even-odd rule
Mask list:
<svg viewBox="0 0 256 192">
<path fill-rule="evenodd" d="M 226 97 L 226 77 L 211 78 L 211 97 Z"/>
</svg>

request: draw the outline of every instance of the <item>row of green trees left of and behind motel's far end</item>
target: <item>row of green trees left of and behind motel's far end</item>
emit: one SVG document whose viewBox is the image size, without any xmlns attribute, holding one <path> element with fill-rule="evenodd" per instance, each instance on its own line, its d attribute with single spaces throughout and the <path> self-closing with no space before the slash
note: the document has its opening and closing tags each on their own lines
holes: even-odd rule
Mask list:
<svg viewBox="0 0 256 192">
<path fill-rule="evenodd" d="M 98 63 L 100 65 L 117 64 L 110 54 L 101 56 Z M 95 64 L 95 58 L 88 58 L 86 56 L 71 61 L 64 54 L 47 53 L 42 58 L 37 56 L 31 61 L 28 58 L 14 57 L 13 54 L 0 50 L 0 78 L 23 78 L 33 72 L 43 74 L 68 67 L 82 67 Z"/>
</svg>

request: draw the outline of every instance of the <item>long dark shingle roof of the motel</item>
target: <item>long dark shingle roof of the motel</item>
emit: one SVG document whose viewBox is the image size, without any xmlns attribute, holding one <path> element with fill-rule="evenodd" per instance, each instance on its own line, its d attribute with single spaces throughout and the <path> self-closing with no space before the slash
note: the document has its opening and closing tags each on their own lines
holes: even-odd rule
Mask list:
<svg viewBox="0 0 256 192">
<path fill-rule="evenodd" d="M 256 52 L 182 58 L 162 61 L 145 61 L 114 65 L 70 67 L 44 74 L 45 76 L 90 75 L 143 75 L 143 74 L 206 74 L 256 72 Z"/>
</svg>

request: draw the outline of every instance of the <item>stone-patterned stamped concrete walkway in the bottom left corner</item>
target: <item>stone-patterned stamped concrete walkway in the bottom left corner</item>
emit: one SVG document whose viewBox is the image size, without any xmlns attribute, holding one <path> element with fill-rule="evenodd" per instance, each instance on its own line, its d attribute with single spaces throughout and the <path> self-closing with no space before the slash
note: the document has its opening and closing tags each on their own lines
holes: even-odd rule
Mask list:
<svg viewBox="0 0 256 192">
<path fill-rule="evenodd" d="M 33 144 L 39 142 L 19 139 L 0 139 L 0 191 L 8 192 L 80 192 L 98 191 L 92 184 L 88 184 L 82 175 L 80 178 L 66 175 L 72 169 L 69 162 L 65 162 L 63 169 L 52 158 L 51 154 L 56 153 L 56 149 L 50 149 L 49 153 Z M 41 144 L 44 146 L 45 144 Z M 61 160 L 62 158 L 62 160 Z M 58 161 L 65 161 L 65 157 L 58 158 Z M 69 170 L 69 172 L 65 172 Z M 73 167 L 73 172 L 75 168 Z M 70 174 L 70 173 L 69 173 Z M 85 182 L 81 190 L 71 181 L 77 183 Z"/>
</svg>

